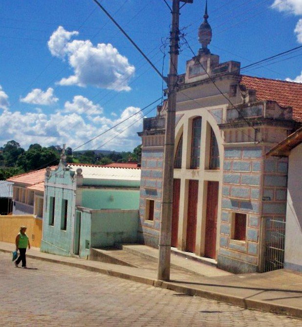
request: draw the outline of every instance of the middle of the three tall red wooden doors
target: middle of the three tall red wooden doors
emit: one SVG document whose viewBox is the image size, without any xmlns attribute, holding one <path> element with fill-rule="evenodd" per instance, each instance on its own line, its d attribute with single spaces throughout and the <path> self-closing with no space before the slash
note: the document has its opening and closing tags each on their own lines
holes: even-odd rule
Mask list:
<svg viewBox="0 0 302 327">
<path fill-rule="evenodd" d="M 186 251 L 195 252 L 198 180 L 189 180 Z"/>
</svg>

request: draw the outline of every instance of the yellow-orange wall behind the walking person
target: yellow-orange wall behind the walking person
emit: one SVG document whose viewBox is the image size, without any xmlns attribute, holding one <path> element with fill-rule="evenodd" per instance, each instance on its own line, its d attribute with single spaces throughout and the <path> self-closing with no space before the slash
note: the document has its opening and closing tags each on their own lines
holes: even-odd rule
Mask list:
<svg viewBox="0 0 302 327">
<path fill-rule="evenodd" d="M 40 247 L 42 240 L 42 219 L 33 215 L 0 216 L 0 241 L 15 243 L 20 227 L 27 227 L 26 234 L 30 245 Z"/>
</svg>

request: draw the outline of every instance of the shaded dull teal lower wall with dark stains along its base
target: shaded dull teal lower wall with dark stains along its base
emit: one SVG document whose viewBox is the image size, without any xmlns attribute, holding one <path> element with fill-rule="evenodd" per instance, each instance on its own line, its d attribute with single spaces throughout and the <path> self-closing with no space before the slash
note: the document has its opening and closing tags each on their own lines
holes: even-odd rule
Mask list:
<svg viewBox="0 0 302 327">
<path fill-rule="evenodd" d="M 137 242 L 138 210 L 92 212 L 91 247 Z"/>
</svg>

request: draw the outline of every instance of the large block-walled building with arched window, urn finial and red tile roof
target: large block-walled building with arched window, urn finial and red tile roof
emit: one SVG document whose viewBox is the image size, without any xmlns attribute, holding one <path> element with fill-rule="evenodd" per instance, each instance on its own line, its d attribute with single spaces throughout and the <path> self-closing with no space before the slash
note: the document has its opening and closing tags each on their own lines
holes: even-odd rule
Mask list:
<svg viewBox="0 0 302 327">
<path fill-rule="evenodd" d="M 287 158 L 265 156 L 296 130 L 302 85 L 240 74 L 202 47 L 178 77 L 172 240 L 174 248 L 235 273 L 266 271 L 268 221 L 285 221 Z M 140 241 L 158 246 L 165 115 L 145 118 L 142 137 Z"/>
</svg>

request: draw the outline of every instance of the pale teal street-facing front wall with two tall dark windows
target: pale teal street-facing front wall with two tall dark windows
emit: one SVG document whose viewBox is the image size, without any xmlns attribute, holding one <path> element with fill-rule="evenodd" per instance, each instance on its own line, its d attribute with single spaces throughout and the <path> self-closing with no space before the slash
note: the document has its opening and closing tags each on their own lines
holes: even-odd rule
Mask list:
<svg viewBox="0 0 302 327">
<path fill-rule="evenodd" d="M 62 188 L 62 186 L 60 186 L 60 184 L 63 184 L 73 187 L 74 181 L 70 173 L 69 171 L 62 171 L 62 169 L 59 169 L 56 173 L 52 172 L 50 178 L 45 183 L 44 201 L 46 201 L 46 208 L 43 215 L 42 252 L 70 256 L 71 242 L 73 239 L 71 227 L 75 215 L 74 190 Z M 56 183 L 58 187 L 48 186 L 47 183 Z M 53 226 L 49 225 L 49 218 L 51 215 L 50 197 L 55 197 L 55 217 Z M 61 229 L 61 221 L 64 219 L 64 209 L 62 208 L 62 201 L 64 199 L 68 201 L 66 230 Z"/>
</svg>

